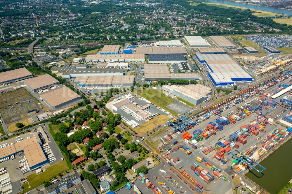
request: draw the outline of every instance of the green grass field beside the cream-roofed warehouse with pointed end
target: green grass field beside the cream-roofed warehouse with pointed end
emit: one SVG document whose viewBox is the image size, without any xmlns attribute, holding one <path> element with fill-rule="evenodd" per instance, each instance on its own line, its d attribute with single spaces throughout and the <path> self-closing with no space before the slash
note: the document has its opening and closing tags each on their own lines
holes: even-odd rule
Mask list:
<svg viewBox="0 0 292 194">
<path fill-rule="evenodd" d="M 169 98 L 165 94 L 162 94 L 162 93 L 160 93 L 157 90 L 154 90 L 152 88 L 136 90 L 135 93 L 137 93 L 139 96 L 142 96 L 143 98 L 146 98 L 147 100 L 151 101 L 156 106 L 161 107 L 164 110 L 170 112 L 172 115 L 177 115 L 176 112 L 174 112 L 173 110 L 166 107 L 170 103 L 175 102 L 175 100 L 172 98 Z"/>
</svg>

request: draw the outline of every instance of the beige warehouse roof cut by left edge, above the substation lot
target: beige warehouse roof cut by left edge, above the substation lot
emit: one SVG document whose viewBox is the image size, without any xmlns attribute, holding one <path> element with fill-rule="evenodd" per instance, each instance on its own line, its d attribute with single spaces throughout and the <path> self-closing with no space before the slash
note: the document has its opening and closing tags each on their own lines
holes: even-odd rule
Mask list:
<svg viewBox="0 0 292 194">
<path fill-rule="evenodd" d="M 5 72 L 0 73 L 0 83 L 7 82 L 10 80 L 16 80 L 18 78 L 27 77 L 27 76 L 32 76 L 32 73 L 30 73 L 26 68 L 5 71 Z"/>
</svg>

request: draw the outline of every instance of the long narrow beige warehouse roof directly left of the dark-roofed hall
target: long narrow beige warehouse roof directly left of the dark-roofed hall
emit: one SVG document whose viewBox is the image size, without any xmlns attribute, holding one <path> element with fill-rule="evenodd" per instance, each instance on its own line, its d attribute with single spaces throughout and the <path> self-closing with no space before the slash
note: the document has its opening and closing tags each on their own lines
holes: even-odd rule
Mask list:
<svg viewBox="0 0 292 194">
<path fill-rule="evenodd" d="M 144 54 L 88 54 L 85 60 L 145 60 Z"/>
</svg>

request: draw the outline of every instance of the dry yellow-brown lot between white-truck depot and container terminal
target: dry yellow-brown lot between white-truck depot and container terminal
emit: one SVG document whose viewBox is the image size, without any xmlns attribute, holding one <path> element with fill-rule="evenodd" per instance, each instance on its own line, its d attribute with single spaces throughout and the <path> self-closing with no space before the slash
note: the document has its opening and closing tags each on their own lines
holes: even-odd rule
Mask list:
<svg viewBox="0 0 292 194">
<path fill-rule="evenodd" d="M 168 121 L 168 117 L 166 115 L 158 115 L 157 117 L 154 117 L 150 121 L 147 121 L 143 123 L 142 125 L 135 128 L 135 131 L 139 134 L 145 134 L 147 131 L 151 131 L 155 128 L 157 128 L 158 125 L 165 124 Z"/>
</svg>

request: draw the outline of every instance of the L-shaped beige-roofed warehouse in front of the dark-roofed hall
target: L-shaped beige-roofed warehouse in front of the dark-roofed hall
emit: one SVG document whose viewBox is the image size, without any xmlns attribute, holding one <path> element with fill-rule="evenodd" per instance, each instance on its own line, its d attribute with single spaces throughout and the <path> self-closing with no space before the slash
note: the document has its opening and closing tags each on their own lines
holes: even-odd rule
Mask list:
<svg viewBox="0 0 292 194">
<path fill-rule="evenodd" d="M 170 73 L 167 64 L 145 64 L 144 79 L 147 80 L 200 80 L 197 73 Z"/>
</svg>

